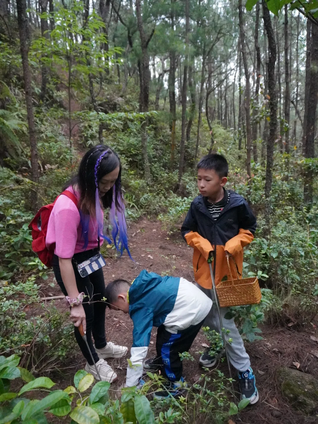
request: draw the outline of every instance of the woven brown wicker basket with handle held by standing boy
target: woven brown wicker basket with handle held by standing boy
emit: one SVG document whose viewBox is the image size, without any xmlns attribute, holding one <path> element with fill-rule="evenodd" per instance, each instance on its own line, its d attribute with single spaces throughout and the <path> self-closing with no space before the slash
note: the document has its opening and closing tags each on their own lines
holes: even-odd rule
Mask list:
<svg viewBox="0 0 318 424">
<path fill-rule="evenodd" d="M 259 303 L 262 294 L 257 277 L 239 279 L 236 263 L 234 261 L 237 272 L 237 279 L 234 280 L 229 264 L 229 257 L 227 256 L 226 259 L 231 281 L 221 281 L 216 287 L 220 307 L 254 305 Z"/>
</svg>

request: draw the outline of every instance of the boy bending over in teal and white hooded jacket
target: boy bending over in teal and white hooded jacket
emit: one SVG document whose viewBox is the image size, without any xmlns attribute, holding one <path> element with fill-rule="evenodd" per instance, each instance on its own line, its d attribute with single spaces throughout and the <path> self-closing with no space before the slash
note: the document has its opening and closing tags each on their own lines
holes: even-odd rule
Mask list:
<svg viewBox="0 0 318 424">
<path fill-rule="evenodd" d="M 188 351 L 198 334 L 212 301 L 198 287 L 184 278 L 161 277 L 143 270 L 131 285 L 115 280 L 106 287 L 106 299 L 113 310 L 129 313 L 134 322 L 131 363 L 126 386 L 137 385 L 143 369 L 162 369 L 167 390 L 178 396 L 184 385 L 179 353 Z M 157 355 L 145 360 L 152 327 L 158 327 Z M 157 399 L 169 397 L 166 390 L 156 392 Z"/>
</svg>

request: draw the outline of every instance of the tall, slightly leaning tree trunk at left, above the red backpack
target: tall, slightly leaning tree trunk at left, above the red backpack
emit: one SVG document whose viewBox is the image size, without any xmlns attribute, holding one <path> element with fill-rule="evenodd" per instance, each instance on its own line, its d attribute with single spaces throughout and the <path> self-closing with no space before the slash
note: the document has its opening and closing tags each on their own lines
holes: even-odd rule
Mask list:
<svg viewBox="0 0 318 424">
<path fill-rule="evenodd" d="M 27 118 L 28 118 L 28 132 L 29 132 L 30 150 L 31 150 L 31 179 L 32 181 L 37 183 L 39 180 L 38 152 L 37 152 L 33 106 L 32 106 L 31 71 L 30 71 L 29 61 L 28 61 L 28 41 L 29 41 L 28 40 L 28 17 L 26 14 L 25 0 L 17 0 L 17 15 L 18 15 L 20 51 L 21 51 L 23 78 L 24 78 L 25 103 L 26 103 Z M 37 209 L 37 192 L 35 187 L 33 187 L 33 189 L 31 190 L 31 205 L 33 210 Z"/>
</svg>

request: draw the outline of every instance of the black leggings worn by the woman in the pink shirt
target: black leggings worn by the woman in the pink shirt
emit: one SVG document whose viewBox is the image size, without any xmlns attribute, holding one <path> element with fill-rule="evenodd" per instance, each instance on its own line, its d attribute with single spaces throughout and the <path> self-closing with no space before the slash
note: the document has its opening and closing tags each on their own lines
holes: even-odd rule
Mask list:
<svg viewBox="0 0 318 424">
<path fill-rule="evenodd" d="M 76 268 L 74 260 L 77 263 L 81 263 L 84 260 L 96 255 L 97 253 L 98 249 L 96 248 L 87 250 L 85 252 L 75 253 L 72 258 L 72 265 L 75 273 L 78 293 L 84 292 L 86 295 L 88 295 L 88 297 L 85 297 L 83 300 L 83 308 L 86 316 L 86 338 L 95 363 L 99 361 L 99 357 L 93 346 L 92 335 L 95 340 L 95 346 L 97 349 L 101 349 L 107 344 L 105 336 L 106 302 L 102 301 L 102 298 L 105 297 L 105 280 L 103 275 L 103 268 L 94 271 L 87 277 L 81 277 Z M 61 287 L 63 294 L 67 296 L 67 291 L 61 277 L 59 258 L 56 255 L 53 257 L 52 266 L 56 282 Z M 89 365 L 93 365 L 89 351 L 87 350 L 86 343 L 82 339 L 80 332 L 78 331 L 78 327 L 74 327 L 74 334 L 78 346 L 80 347 L 85 359 Z"/>
</svg>

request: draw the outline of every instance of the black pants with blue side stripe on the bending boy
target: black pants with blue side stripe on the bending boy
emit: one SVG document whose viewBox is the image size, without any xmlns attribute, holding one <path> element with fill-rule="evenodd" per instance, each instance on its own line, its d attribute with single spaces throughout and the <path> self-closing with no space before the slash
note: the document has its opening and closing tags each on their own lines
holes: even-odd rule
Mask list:
<svg viewBox="0 0 318 424">
<path fill-rule="evenodd" d="M 158 327 L 156 350 L 157 360 L 162 365 L 163 374 L 170 381 L 179 381 L 182 376 L 182 361 L 179 353 L 189 351 L 204 320 L 192 325 L 177 334 L 169 333 L 164 325 Z"/>
</svg>

